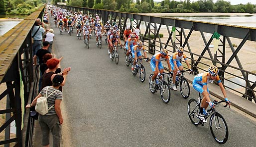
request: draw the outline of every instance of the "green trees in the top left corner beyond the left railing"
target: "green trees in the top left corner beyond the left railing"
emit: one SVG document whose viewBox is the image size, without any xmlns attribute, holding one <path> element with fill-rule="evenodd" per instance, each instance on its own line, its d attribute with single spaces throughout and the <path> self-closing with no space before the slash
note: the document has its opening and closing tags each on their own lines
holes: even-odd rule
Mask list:
<svg viewBox="0 0 256 147">
<path fill-rule="evenodd" d="M 29 15 L 46 3 L 46 0 L 0 0 L 0 15 Z"/>
</svg>

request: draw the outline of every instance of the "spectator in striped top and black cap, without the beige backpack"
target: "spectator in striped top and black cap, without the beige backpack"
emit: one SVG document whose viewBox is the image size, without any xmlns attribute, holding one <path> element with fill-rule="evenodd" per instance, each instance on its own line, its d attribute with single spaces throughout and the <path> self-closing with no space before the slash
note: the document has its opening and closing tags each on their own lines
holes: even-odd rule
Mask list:
<svg viewBox="0 0 256 147">
<path fill-rule="evenodd" d="M 53 105 L 45 115 L 39 114 L 39 124 L 42 131 L 42 146 L 49 147 L 50 131 L 53 137 L 53 147 L 60 147 L 61 142 L 61 124 L 63 124 L 63 117 L 61 114 L 60 103 L 62 100 L 62 92 L 59 91 L 59 87 L 64 82 L 65 76 L 53 75 L 52 86 L 45 87 L 40 94 L 32 101 L 31 104 L 27 104 L 26 108 L 30 108 L 36 105 L 37 98 L 45 96 L 47 93 L 48 108 Z M 51 94 L 51 95 L 50 95 Z"/>
</svg>

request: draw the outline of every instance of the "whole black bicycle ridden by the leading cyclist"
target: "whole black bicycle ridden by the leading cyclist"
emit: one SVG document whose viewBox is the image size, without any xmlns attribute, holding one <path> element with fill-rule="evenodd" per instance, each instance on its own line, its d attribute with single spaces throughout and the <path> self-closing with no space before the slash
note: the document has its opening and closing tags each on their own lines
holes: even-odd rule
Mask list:
<svg viewBox="0 0 256 147">
<path fill-rule="evenodd" d="M 199 93 L 198 100 L 191 98 L 188 101 L 188 116 L 191 122 L 195 126 L 198 126 L 198 125 L 204 126 L 204 122 L 198 116 L 201 102 L 202 102 L 202 98 L 200 93 Z M 229 130 L 224 117 L 217 112 L 216 107 L 219 106 L 219 103 L 226 102 L 226 101 L 214 100 L 212 102 L 215 104 L 215 108 L 210 108 L 206 110 L 208 114 L 205 116 L 205 119 L 207 119 L 211 115 L 210 122 L 209 122 L 211 134 L 217 143 L 225 144 L 229 137 Z M 228 103 L 226 102 L 226 105 L 224 105 L 224 107 L 227 107 L 227 106 L 228 106 Z"/>
</svg>

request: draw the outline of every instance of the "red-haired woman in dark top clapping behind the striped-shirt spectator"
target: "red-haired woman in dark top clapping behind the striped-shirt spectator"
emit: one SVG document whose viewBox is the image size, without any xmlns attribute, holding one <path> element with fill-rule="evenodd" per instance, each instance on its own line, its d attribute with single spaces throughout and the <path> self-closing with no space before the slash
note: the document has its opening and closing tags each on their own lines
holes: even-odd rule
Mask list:
<svg viewBox="0 0 256 147">
<path fill-rule="evenodd" d="M 60 71 L 56 71 L 59 67 L 59 63 L 62 60 L 63 57 L 61 57 L 60 59 L 57 58 L 51 58 L 49 60 L 47 60 L 46 65 L 48 67 L 48 69 L 45 70 L 44 74 L 43 74 L 43 80 L 42 80 L 42 87 L 41 90 L 46 87 L 46 86 L 52 86 L 52 81 L 51 81 L 51 76 L 53 74 L 56 73 L 60 73 Z M 68 72 L 71 70 L 70 67 L 68 68 L 64 68 L 62 75 L 64 77 L 64 81 L 62 82 L 61 86 L 64 86 L 66 83 L 66 77 L 68 75 Z M 41 91 L 40 90 L 40 91 Z M 61 87 L 59 88 L 59 90 L 61 90 Z"/>
</svg>

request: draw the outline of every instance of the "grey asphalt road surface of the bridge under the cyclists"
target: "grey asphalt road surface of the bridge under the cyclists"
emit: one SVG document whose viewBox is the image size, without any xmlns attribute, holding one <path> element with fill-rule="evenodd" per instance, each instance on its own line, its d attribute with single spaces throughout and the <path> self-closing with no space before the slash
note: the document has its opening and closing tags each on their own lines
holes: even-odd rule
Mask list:
<svg viewBox="0 0 256 147">
<path fill-rule="evenodd" d="M 60 35 L 58 28 L 52 28 L 54 53 L 64 56 L 62 68 L 72 68 L 63 87 L 64 147 L 221 146 L 214 141 L 208 122 L 205 126 L 190 122 L 187 103 L 198 98 L 193 88 L 188 99 L 171 91 L 171 100 L 165 104 L 159 91 L 149 91 L 149 63 L 144 62 L 146 81 L 141 83 L 126 66 L 123 50 L 116 65 L 106 44 L 102 49 L 96 47 L 95 37 L 87 49 L 75 33 Z M 218 111 L 229 128 L 225 147 L 256 147 L 255 121 L 222 106 Z"/>
</svg>

